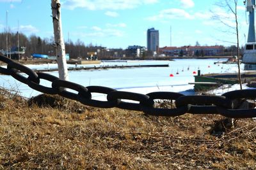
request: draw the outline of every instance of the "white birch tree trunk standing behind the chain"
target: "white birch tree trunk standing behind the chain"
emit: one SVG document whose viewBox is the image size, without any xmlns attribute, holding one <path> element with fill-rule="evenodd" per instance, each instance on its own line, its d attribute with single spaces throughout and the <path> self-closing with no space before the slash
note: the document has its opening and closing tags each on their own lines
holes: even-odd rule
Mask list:
<svg viewBox="0 0 256 170">
<path fill-rule="evenodd" d="M 61 26 L 60 0 L 52 0 L 52 22 L 54 29 L 54 40 L 56 48 L 56 57 L 58 62 L 59 77 L 61 80 L 68 80 L 68 68 L 65 54 L 65 43 Z"/>
</svg>

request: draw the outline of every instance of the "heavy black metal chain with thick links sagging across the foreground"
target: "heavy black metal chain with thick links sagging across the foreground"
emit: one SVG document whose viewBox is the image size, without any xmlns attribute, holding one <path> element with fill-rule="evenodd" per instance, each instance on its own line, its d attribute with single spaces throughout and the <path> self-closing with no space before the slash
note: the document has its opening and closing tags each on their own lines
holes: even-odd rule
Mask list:
<svg viewBox="0 0 256 170">
<path fill-rule="evenodd" d="M 122 108 L 125 110 L 143 111 L 143 113 L 154 116 L 176 117 L 185 113 L 192 114 L 220 114 L 230 118 L 252 118 L 256 117 L 256 109 L 235 109 L 237 99 L 256 98 L 256 90 L 234 90 L 221 96 L 184 96 L 176 92 L 152 92 L 149 94 L 138 94 L 134 92 L 122 92 L 109 87 L 88 86 L 83 87 L 77 83 L 60 80 L 56 76 L 47 73 L 35 72 L 29 67 L 23 66 L 3 55 L 0 61 L 7 64 L 7 68 L 0 67 L 1 74 L 13 76 L 16 80 L 27 84 L 32 89 L 45 94 L 59 94 L 68 99 L 79 101 L 88 106 L 97 108 Z M 22 74 L 28 74 L 28 78 Z M 51 81 L 51 87 L 40 85 L 40 80 Z M 68 92 L 66 89 L 75 90 L 77 93 Z M 106 94 L 106 101 L 92 99 L 92 93 Z M 155 100 L 175 101 L 175 108 L 156 108 Z M 129 103 L 122 100 L 136 101 Z"/>
</svg>

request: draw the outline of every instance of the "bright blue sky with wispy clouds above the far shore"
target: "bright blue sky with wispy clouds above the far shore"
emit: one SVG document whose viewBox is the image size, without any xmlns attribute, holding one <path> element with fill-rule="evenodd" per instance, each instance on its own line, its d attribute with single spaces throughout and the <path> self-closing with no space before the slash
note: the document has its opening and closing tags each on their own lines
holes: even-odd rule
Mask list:
<svg viewBox="0 0 256 170">
<path fill-rule="evenodd" d="M 234 25 L 234 15 L 216 6 L 220 0 L 61 0 L 63 36 L 85 45 L 107 48 L 127 48 L 129 45 L 147 46 L 147 29 L 159 30 L 159 46 L 234 45 L 236 36 L 225 24 Z M 239 34 L 243 45 L 248 34 L 248 13 L 239 1 Z M 8 26 L 26 35 L 42 38 L 53 36 L 51 0 L 0 0 L 0 31 Z M 223 22 L 212 20 L 221 15 Z M 245 37 L 246 36 L 246 37 Z M 231 42 L 231 43 L 227 43 Z"/>
</svg>

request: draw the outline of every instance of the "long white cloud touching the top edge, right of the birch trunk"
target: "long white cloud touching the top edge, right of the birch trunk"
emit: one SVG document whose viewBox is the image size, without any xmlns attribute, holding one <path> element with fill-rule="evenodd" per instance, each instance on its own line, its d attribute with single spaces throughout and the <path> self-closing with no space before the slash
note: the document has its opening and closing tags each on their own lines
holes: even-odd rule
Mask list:
<svg viewBox="0 0 256 170">
<path fill-rule="evenodd" d="M 1 1 L 1 0 L 0 0 Z M 74 10 L 86 8 L 87 10 L 125 10 L 136 8 L 142 4 L 154 4 L 159 0 L 66 0 L 63 8 Z"/>
</svg>

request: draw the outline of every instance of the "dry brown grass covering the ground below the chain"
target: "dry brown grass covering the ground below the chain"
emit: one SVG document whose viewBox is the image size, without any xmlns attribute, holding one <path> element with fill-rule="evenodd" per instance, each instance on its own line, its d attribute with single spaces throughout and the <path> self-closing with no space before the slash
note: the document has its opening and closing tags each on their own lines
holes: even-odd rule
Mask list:
<svg viewBox="0 0 256 170">
<path fill-rule="evenodd" d="M 28 106 L 6 93 L 0 96 L 0 169 L 256 169 L 251 119 L 217 138 L 210 131 L 219 115 L 166 118 L 84 106 L 77 113 Z"/>
</svg>

